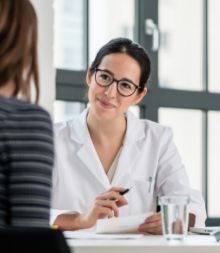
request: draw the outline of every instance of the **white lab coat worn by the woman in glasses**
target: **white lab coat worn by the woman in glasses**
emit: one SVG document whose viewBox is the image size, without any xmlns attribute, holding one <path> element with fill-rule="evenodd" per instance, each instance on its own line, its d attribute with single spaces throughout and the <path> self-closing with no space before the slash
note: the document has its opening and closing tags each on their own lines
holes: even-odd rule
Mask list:
<svg viewBox="0 0 220 253">
<path fill-rule="evenodd" d="M 120 208 L 120 215 L 155 212 L 156 199 L 162 195 L 191 195 L 170 128 L 128 112 L 124 144 L 110 183 L 90 138 L 86 115 L 87 110 L 55 127 L 53 209 L 84 213 L 98 194 L 112 186 L 132 187 L 125 195 L 128 205 Z M 197 216 L 196 225 L 204 225 L 202 199 L 193 195 L 189 209 Z"/>
</svg>

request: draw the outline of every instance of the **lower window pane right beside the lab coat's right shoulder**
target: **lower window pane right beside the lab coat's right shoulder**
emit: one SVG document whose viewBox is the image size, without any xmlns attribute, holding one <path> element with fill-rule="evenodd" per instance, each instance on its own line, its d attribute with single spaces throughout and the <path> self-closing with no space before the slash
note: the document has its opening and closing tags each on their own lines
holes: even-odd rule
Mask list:
<svg viewBox="0 0 220 253">
<path fill-rule="evenodd" d="M 161 107 L 159 122 L 172 127 L 174 142 L 186 167 L 190 184 L 202 192 L 203 113 L 200 110 Z"/>
</svg>

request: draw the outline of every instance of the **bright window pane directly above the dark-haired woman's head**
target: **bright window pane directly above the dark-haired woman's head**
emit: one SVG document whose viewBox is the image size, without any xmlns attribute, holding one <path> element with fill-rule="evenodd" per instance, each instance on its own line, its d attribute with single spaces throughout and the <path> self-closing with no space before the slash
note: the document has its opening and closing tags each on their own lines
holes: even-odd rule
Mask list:
<svg viewBox="0 0 220 253">
<path fill-rule="evenodd" d="M 89 63 L 111 38 L 133 39 L 134 22 L 134 0 L 89 1 Z"/>
</svg>

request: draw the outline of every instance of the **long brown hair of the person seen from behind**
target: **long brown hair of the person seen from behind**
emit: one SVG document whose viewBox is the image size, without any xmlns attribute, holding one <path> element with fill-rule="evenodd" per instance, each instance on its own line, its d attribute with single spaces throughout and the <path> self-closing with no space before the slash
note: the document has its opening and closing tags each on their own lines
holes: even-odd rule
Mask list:
<svg viewBox="0 0 220 253">
<path fill-rule="evenodd" d="M 15 83 L 13 96 L 39 100 L 37 16 L 29 0 L 0 0 L 0 87 Z"/>
</svg>

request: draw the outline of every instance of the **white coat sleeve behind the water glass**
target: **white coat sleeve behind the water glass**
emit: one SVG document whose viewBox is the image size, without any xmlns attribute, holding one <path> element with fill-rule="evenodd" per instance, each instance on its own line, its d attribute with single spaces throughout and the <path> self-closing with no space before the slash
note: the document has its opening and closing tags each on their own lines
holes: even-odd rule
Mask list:
<svg viewBox="0 0 220 253">
<path fill-rule="evenodd" d="M 158 162 L 157 195 L 189 195 L 189 212 L 196 216 L 196 226 L 203 226 L 206 211 L 201 194 L 190 188 L 189 179 L 176 146 L 173 143 L 172 131 L 166 128 L 161 137 L 161 150 Z"/>
</svg>

